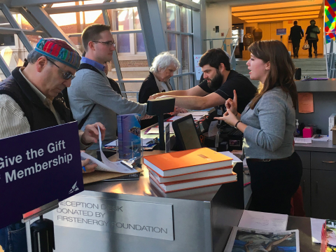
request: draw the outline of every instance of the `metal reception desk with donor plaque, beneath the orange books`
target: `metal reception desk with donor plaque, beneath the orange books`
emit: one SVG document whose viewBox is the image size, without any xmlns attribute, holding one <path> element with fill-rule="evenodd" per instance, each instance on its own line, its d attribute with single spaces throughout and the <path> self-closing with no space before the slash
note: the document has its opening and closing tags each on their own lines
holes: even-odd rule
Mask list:
<svg viewBox="0 0 336 252">
<path fill-rule="evenodd" d="M 242 164 L 234 167 L 237 182 L 169 194 L 142 169 L 139 181 L 88 184 L 60 202 L 46 216 L 56 251 L 223 251 L 244 210 Z"/>
</svg>

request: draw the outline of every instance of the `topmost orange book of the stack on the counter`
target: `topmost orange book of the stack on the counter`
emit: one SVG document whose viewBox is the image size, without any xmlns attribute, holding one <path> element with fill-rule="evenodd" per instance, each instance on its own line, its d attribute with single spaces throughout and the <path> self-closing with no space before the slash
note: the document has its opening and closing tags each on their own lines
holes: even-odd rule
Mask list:
<svg viewBox="0 0 336 252">
<path fill-rule="evenodd" d="M 209 148 L 197 148 L 144 157 L 144 165 L 160 176 L 176 176 L 232 165 L 232 158 Z"/>
</svg>

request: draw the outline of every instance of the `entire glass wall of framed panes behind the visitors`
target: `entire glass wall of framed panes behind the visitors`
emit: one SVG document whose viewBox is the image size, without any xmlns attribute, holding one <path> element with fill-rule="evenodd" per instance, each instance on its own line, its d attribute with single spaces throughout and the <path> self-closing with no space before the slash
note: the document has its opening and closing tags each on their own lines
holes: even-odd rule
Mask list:
<svg viewBox="0 0 336 252">
<path fill-rule="evenodd" d="M 128 91 L 139 91 L 142 81 L 148 76 L 146 48 L 148 48 L 148 46 L 151 47 L 152 41 L 148 41 L 148 45 L 145 46 L 138 8 L 116 8 L 107 10 L 103 8 L 104 10 L 102 10 L 98 7 L 99 9 L 97 10 L 92 10 L 94 8 L 91 8 L 90 11 L 80 11 L 81 9 L 83 10 L 83 8 L 80 8 L 83 5 L 101 5 L 105 3 L 109 5 L 109 1 L 122 2 L 127 0 L 86 0 L 72 1 L 69 3 L 49 3 L 43 5 L 42 8 L 45 8 L 46 13 L 48 13 L 51 8 L 53 9 L 53 14 L 50 14 L 50 18 L 57 24 L 59 29 L 62 29 L 66 36 L 69 36 L 69 39 L 71 39 L 81 51 L 83 51 L 84 48 L 80 36 L 87 26 L 92 24 L 111 25 L 111 32 L 116 41 L 118 61 L 114 58 L 114 62 L 109 62 L 109 77 L 115 78 L 116 80 L 119 78 L 120 83 L 127 83 L 128 81 L 129 84 L 127 84 L 126 88 Z M 167 46 L 167 49 L 165 49 L 165 46 L 163 50 L 172 52 L 181 63 L 181 67 L 174 73 L 172 82 L 174 82 L 174 86 L 177 90 L 188 89 L 193 86 L 194 82 L 193 12 L 182 6 L 166 3 L 166 1 L 158 0 L 158 2 L 160 3 L 162 14 L 159 22 L 161 21 L 162 23 L 166 39 L 165 45 Z M 71 7 L 71 10 L 68 10 L 72 11 L 71 13 L 66 13 L 67 7 Z M 60 10 L 59 12 L 65 13 L 57 13 L 55 8 L 62 8 L 62 11 Z M 33 22 L 33 20 L 29 18 L 29 13 L 27 14 L 29 21 L 27 21 L 21 13 L 12 14 L 22 29 L 33 30 L 36 28 L 29 23 L 29 21 Z M 36 20 L 38 20 L 37 17 Z M 153 22 L 153 20 L 151 21 Z M 155 20 L 155 22 L 158 22 L 158 20 Z M 48 29 L 48 25 L 44 27 L 42 24 L 41 29 Z M 1 27 L 12 28 L 0 10 L 0 29 Z M 38 35 L 26 36 L 33 47 L 36 46 L 36 43 L 41 39 L 41 36 Z M 28 54 L 25 45 L 23 45 L 16 34 L 1 34 L 0 51 L 5 63 L 10 66 L 10 69 L 22 65 Z M 115 64 L 118 64 L 118 66 Z M 118 70 L 118 78 L 116 69 L 120 69 L 122 72 L 121 75 Z"/>
</svg>

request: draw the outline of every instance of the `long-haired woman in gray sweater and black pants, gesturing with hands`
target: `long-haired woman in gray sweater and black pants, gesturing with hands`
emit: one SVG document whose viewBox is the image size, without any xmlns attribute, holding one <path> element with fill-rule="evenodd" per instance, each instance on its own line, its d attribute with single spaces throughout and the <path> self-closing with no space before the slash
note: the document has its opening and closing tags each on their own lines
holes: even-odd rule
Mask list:
<svg viewBox="0 0 336 252">
<path fill-rule="evenodd" d="M 250 210 L 290 214 L 290 198 L 300 185 L 302 162 L 293 147 L 297 90 L 295 66 L 280 41 L 258 41 L 248 47 L 251 80 L 260 80 L 243 113 L 237 95 L 219 120 L 244 133 L 244 152 L 251 174 Z M 235 92 L 234 92 L 235 93 Z"/>
</svg>

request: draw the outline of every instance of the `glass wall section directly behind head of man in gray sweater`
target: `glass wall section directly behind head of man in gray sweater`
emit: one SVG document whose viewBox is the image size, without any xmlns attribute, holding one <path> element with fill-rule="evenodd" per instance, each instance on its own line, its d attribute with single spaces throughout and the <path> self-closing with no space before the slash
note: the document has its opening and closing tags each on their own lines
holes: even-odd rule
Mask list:
<svg viewBox="0 0 336 252">
<path fill-rule="evenodd" d="M 55 3 L 52 8 L 64 6 L 80 6 L 83 4 L 102 3 L 104 1 L 77 1 L 71 3 Z M 105 20 L 104 20 L 105 15 Z M 108 20 L 111 26 L 113 38 L 116 41 L 116 51 L 118 52 L 118 64 L 123 73 L 123 78 L 139 78 L 139 82 L 148 75 L 148 62 L 144 36 L 141 31 L 138 8 L 116 8 L 108 10 L 78 11 L 74 13 L 52 14 L 50 18 L 59 25 L 60 29 L 66 33 L 79 50 L 83 51 L 81 33 L 92 24 L 105 25 Z M 116 73 L 116 62 L 109 62 L 110 78 L 118 80 Z M 141 85 L 130 83 L 125 85 L 127 91 L 139 91 Z"/>
</svg>

